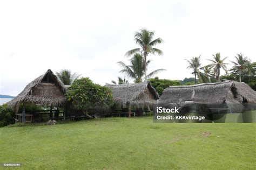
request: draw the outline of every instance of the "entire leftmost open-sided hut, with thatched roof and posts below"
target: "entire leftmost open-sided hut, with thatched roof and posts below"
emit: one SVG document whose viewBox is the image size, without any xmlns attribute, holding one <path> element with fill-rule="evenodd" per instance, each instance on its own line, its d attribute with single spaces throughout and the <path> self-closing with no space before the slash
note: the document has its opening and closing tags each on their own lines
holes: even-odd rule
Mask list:
<svg viewBox="0 0 256 170">
<path fill-rule="evenodd" d="M 48 69 L 46 73 L 30 82 L 21 93 L 7 104 L 15 110 L 16 122 L 42 122 L 47 119 L 65 119 L 66 98 L 64 94 L 64 84 Z M 50 109 L 26 113 L 26 106 L 30 104 L 49 107 Z M 23 107 L 22 112 L 18 112 L 20 106 Z M 63 111 L 59 110 L 60 107 L 63 108 Z"/>
</svg>

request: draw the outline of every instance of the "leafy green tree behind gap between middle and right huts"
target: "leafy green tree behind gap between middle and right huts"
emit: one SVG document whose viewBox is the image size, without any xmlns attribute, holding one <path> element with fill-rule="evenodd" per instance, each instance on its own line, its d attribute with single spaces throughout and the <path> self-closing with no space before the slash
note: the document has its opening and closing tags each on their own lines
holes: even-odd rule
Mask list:
<svg viewBox="0 0 256 170">
<path fill-rule="evenodd" d="M 158 77 L 154 77 L 154 79 L 149 79 L 149 81 L 159 95 L 162 95 L 164 89 L 167 87 L 181 85 L 181 82 L 178 80 L 158 79 Z"/>
</svg>

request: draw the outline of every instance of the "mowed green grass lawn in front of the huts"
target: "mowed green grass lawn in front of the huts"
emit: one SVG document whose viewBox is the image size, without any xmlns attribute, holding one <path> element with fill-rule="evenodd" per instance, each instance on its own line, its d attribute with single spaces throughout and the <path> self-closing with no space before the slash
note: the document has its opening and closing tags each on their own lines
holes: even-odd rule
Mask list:
<svg viewBox="0 0 256 170">
<path fill-rule="evenodd" d="M 0 128 L 0 138 L 0 163 L 21 163 L 24 169 L 256 167 L 255 123 L 102 118 L 53 126 L 5 127 Z"/>
</svg>

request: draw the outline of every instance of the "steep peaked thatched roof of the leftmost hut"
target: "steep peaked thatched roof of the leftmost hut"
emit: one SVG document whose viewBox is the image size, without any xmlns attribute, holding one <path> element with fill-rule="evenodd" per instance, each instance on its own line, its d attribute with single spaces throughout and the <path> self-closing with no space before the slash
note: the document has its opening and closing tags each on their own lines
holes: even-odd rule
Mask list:
<svg viewBox="0 0 256 170">
<path fill-rule="evenodd" d="M 35 103 L 41 105 L 61 105 L 65 103 L 64 84 L 49 69 L 43 75 L 29 83 L 25 89 L 7 104 L 12 108 L 20 103 Z"/>
</svg>

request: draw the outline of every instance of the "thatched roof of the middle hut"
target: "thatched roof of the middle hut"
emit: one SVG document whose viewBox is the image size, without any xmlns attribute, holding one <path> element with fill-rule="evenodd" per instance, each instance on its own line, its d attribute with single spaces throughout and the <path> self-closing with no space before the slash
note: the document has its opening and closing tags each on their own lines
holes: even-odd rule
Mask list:
<svg viewBox="0 0 256 170">
<path fill-rule="evenodd" d="M 156 104 L 159 98 L 157 91 L 147 81 L 120 85 L 106 84 L 106 87 L 111 88 L 114 102 L 123 107 L 144 107 Z"/>
</svg>

